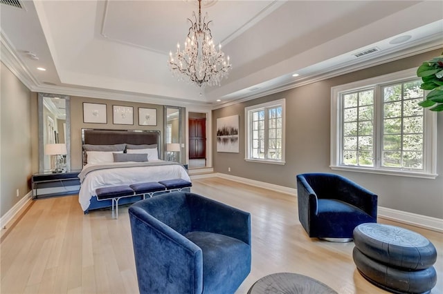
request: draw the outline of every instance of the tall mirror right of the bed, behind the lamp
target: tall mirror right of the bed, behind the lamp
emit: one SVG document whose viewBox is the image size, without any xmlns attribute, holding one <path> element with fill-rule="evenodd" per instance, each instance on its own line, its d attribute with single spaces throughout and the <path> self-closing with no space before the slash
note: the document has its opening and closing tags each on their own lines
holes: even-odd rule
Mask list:
<svg viewBox="0 0 443 294">
<path fill-rule="evenodd" d="M 165 160 L 181 162 L 182 113 L 184 108 L 165 106 Z"/>
</svg>

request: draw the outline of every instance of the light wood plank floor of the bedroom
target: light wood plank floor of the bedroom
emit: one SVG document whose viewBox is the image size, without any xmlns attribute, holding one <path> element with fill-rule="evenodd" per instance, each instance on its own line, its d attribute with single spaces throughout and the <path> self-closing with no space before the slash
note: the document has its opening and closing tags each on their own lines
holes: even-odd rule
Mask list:
<svg viewBox="0 0 443 294">
<path fill-rule="evenodd" d="M 193 180 L 192 192 L 252 215 L 252 271 L 237 294 L 278 272 L 313 277 L 338 293 L 387 293 L 356 271 L 353 242 L 307 237 L 298 222 L 296 197 L 217 177 Z M 432 293 L 443 293 L 443 234 L 395 225 L 433 242 L 439 278 Z M 2 294 L 138 293 L 127 206 L 119 209 L 116 220 L 109 210 L 83 215 L 77 196 L 39 199 L 6 235 L 0 250 Z"/>
</svg>

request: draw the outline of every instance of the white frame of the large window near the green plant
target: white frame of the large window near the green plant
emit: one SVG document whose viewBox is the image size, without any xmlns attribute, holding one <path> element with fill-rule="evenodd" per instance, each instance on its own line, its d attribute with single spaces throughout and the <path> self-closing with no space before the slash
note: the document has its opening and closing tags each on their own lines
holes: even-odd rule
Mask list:
<svg viewBox="0 0 443 294">
<path fill-rule="evenodd" d="M 350 84 L 331 88 L 331 165 L 332 170 L 347 170 L 357 173 L 376 173 L 381 175 L 397 175 L 404 177 L 421 177 L 435 179 L 437 177 L 437 114 L 424 110 L 424 155 L 423 170 L 413 168 L 386 168 L 381 166 L 381 126 L 382 101 L 381 86 L 386 84 L 417 79 L 417 69 L 410 68 L 388 75 L 373 77 Z M 341 93 L 360 88 L 374 87 L 374 166 L 347 166 L 341 164 Z M 426 92 L 424 94 L 426 96 Z"/>
</svg>

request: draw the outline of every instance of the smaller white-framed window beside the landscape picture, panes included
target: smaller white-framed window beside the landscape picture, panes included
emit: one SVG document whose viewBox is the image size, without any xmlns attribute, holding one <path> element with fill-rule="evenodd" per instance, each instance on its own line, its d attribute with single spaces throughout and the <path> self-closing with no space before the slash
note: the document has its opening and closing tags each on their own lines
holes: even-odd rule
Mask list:
<svg viewBox="0 0 443 294">
<path fill-rule="evenodd" d="M 245 108 L 247 161 L 284 164 L 284 102 Z"/>
</svg>

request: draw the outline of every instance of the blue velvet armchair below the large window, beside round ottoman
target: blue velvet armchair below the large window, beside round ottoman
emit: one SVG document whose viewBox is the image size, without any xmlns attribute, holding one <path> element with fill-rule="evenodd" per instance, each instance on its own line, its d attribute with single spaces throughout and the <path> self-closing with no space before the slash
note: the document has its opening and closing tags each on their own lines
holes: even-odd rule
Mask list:
<svg viewBox="0 0 443 294">
<path fill-rule="evenodd" d="M 298 219 L 309 237 L 343 242 L 359 224 L 377 222 L 377 195 L 341 175 L 297 175 Z"/>
</svg>

